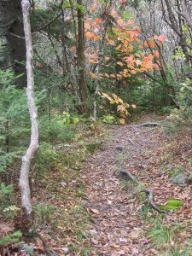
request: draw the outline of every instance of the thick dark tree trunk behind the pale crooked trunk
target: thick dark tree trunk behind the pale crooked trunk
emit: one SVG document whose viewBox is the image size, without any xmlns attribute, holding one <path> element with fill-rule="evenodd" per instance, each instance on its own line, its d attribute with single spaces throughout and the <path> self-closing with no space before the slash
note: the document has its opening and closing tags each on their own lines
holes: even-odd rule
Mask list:
<svg viewBox="0 0 192 256">
<path fill-rule="evenodd" d="M 1 68 L 12 68 L 19 88 L 26 87 L 26 45 L 20 0 L 0 0 L 0 42 L 5 46 Z"/>
</svg>

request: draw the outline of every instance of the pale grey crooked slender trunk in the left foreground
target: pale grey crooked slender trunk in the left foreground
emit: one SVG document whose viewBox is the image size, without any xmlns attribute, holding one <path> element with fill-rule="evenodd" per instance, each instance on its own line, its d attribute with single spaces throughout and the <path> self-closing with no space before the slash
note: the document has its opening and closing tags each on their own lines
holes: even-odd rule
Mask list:
<svg viewBox="0 0 192 256">
<path fill-rule="evenodd" d="M 31 191 L 29 185 L 29 170 L 32 158 L 38 150 L 38 111 L 34 102 L 34 78 L 32 69 L 32 34 L 29 17 L 30 3 L 28 0 L 22 0 L 23 24 L 26 39 L 26 74 L 27 74 L 27 104 L 30 113 L 32 131 L 31 143 L 26 150 L 26 154 L 22 158 L 20 170 L 20 192 L 21 206 L 23 207 L 26 217 L 32 218 Z"/>
</svg>

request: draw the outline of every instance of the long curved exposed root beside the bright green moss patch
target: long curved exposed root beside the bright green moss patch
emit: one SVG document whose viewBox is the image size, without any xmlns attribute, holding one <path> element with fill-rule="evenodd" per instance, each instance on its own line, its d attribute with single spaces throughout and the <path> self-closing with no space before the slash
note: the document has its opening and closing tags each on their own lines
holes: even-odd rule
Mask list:
<svg viewBox="0 0 192 256">
<path fill-rule="evenodd" d="M 137 178 L 134 177 L 131 172 L 125 171 L 125 170 L 120 170 L 120 173 L 125 175 L 126 177 L 129 177 L 134 183 L 137 183 L 137 185 L 141 186 L 143 188 L 143 191 L 148 195 L 148 202 L 149 205 L 157 212 L 159 213 L 166 213 L 166 211 L 160 210 L 159 207 L 156 206 L 154 202 L 154 193 L 151 189 L 145 188 L 141 183 L 137 181 Z"/>
</svg>

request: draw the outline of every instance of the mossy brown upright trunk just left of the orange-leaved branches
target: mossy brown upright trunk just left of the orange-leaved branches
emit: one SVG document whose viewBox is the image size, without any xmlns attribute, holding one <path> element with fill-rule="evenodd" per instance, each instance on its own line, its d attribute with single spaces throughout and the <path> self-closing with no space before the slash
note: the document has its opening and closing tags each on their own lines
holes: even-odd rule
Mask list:
<svg viewBox="0 0 192 256">
<path fill-rule="evenodd" d="M 89 91 L 85 79 L 85 55 L 84 55 L 84 13 L 83 1 L 77 0 L 78 8 L 78 67 L 79 67 L 79 92 L 82 101 L 82 108 L 85 114 L 90 113 Z"/>
</svg>

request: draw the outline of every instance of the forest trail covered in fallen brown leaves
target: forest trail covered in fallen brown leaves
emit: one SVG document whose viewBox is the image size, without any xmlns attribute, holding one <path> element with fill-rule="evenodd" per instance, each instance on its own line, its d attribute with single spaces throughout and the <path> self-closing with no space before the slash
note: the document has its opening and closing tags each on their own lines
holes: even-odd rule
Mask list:
<svg viewBox="0 0 192 256">
<path fill-rule="evenodd" d="M 160 170 L 160 166 L 168 165 L 163 152 L 166 140 L 160 130 L 115 127 L 104 147 L 87 161 L 83 172 L 89 198 L 86 207 L 95 221 L 90 228 L 90 243 L 96 252 L 91 255 L 158 255 L 160 252 L 146 236 L 146 231 L 151 229 L 147 219 L 158 213 L 148 209 L 148 200 L 142 198 L 135 184 L 119 176 L 119 161 L 125 170 L 154 191 L 157 205 L 165 204 L 169 198 L 184 201 L 185 210 L 166 213 L 165 223 L 184 222 L 191 217 L 189 189 L 173 185 L 166 168 Z"/>
</svg>

